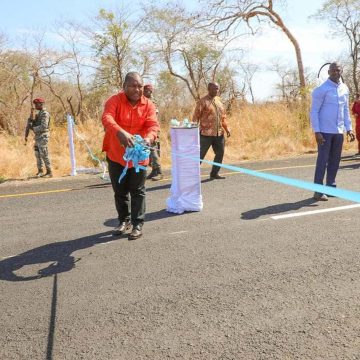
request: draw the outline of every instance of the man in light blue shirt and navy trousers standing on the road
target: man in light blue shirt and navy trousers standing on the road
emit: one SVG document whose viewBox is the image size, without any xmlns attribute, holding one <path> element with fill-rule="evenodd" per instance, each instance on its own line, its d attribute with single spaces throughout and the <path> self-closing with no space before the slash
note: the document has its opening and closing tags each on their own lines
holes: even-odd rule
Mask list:
<svg viewBox="0 0 360 360">
<path fill-rule="evenodd" d="M 312 93 L 311 126 L 318 145 L 315 169 L 315 184 L 323 185 L 326 171 L 326 185 L 336 187 L 344 142 L 344 129 L 355 140 L 349 111 L 349 89 L 341 81 L 342 67 L 333 62 L 328 70 L 329 78 Z M 325 194 L 315 192 L 315 200 L 327 201 Z"/>
</svg>

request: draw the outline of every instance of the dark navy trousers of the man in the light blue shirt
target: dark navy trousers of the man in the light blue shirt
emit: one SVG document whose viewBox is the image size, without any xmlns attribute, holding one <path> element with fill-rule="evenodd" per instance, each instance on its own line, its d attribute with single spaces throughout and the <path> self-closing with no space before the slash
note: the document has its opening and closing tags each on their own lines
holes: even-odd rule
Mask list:
<svg viewBox="0 0 360 360">
<path fill-rule="evenodd" d="M 318 145 L 314 183 L 323 185 L 326 171 L 326 185 L 336 186 L 335 178 L 339 169 L 344 135 L 327 133 L 322 135 L 325 143 Z"/>
</svg>

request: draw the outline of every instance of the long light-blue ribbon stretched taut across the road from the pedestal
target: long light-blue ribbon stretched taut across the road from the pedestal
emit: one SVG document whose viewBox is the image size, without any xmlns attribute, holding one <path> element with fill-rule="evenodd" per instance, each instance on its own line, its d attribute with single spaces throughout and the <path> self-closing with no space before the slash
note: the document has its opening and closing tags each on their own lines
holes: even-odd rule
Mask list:
<svg viewBox="0 0 360 360">
<path fill-rule="evenodd" d="M 251 176 L 256 176 L 256 177 L 259 177 L 259 178 L 262 178 L 265 180 L 275 181 L 275 182 L 278 182 L 278 183 L 281 183 L 284 185 L 290 185 L 290 186 L 298 187 L 300 189 L 315 191 L 315 192 L 318 192 L 321 194 L 332 195 L 332 196 L 336 196 L 338 198 L 342 198 L 342 199 L 360 203 L 360 193 L 356 192 L 356 191 L 339 189 L 339 188 L 335 188 L 332 186 L 314 184 L 309 181 L 297 180 L 297 179 L 287 178 L 284 176 L 263 173 L 263 172 L 250 170 L 250 169 L 246 169 L 246 168 L 241 168 L 241 167 L 233 166 L 233 165 L 220 164 L 220 163 L 209 161 L 209 160 L 200 160 L 200 158 L 193 157 L 193 156 L 181 155 L 181 154 L 176 154 L 176 153 L 174 153 L 174 155 L 180 156 L 183 158 L 188 158 L 188 159 L 191 159 L 194 161 L 202 161 L 202 162 L 210 164 L 210 165 L 216 165 L 216 166 L 222 167 L 224 169 L 241 172 L 241 173 L 248 174 Z"/>
</svg>

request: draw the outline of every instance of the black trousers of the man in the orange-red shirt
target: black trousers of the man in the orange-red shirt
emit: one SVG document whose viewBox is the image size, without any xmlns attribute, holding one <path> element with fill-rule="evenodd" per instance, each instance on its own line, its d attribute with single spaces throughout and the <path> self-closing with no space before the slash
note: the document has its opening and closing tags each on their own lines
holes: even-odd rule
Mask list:
<svg viewBox="0 0 360 360">
<path fill-rule="evenodd" d="M 124 166 L 110 159 L 107 159 L 107 161 L 119 221 L 123 222 L 131 219 L 133 226 L 142 226 L 146 209 L 146 170 L 140 170 L 137 173 L 134 168 L 128 169 L 125 177 L 119 183 L 119 177 L 124 170 Z M 131 198 L 131 203 L 129 198 Z"/>
</svg>

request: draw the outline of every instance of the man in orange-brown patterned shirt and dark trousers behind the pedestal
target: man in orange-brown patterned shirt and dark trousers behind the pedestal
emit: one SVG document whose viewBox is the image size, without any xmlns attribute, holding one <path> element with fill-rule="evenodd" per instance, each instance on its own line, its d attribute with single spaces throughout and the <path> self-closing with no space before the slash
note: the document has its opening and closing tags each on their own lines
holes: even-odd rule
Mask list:
<svg viewBox="0 0 360 360">
<path fill-rule="evenodd" d="M 193 115 L 193 122 L 199 124 L 200 129 L 200 159 L 204 159 L 210 146 L 215 157 L 214 162 L 222 163 L 225 151 L 224 132 L 230 136 L 230 130 L 226 122 L 226 113 L 221 103 L 219 94 L 219 84 L 211 82 L 208 84 L 208 94 L 202 97 L 196 104 Z M 210 179 L 225 179 L 219 175 L 220 167 L 213 165 Z"/>
</svg>

